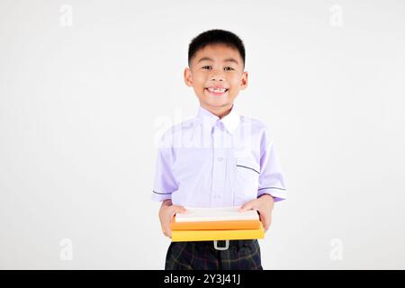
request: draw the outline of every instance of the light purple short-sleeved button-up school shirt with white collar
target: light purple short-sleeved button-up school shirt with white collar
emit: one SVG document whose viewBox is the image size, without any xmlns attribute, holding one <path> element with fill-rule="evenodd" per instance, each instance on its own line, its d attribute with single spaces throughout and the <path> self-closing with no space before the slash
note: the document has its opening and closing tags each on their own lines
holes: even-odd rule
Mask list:
<svg viewBox="0 0 405 288">
<path fill-rule="evenodd" d="M 152 199 L 187 207 L 240 206 L 267 193 L 286 199 L 275 142 L 261 121 L 235 105 L 222 119 L 198 109 L 159 142 Z"/>
</svg>

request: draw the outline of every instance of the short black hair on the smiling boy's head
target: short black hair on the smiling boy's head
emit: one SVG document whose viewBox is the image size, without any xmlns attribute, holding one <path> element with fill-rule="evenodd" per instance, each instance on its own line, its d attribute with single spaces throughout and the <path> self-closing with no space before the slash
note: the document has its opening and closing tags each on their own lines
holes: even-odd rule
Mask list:
<svg viewBox="0 0 405 288">
<path fill-rule="evenodd" d="M 245 67 L 245 45 L 243 41 L 240 40 L 236 34 L 220 29 L 204 31 L 190 42 L 188 46 L 188 65 L 190 66 L 192 58 L 199 49 L 214 44 L 223 44 L 230 48 L 237 49 L 240 58 L 243 60 L 243 67 Z"/>
</svg>

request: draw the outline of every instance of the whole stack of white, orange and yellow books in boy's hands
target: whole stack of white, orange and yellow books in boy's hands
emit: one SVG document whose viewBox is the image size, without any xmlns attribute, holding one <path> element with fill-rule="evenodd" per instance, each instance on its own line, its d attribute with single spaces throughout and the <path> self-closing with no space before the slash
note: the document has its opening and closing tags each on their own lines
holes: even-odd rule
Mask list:
<svg viewBox="0 0 405 288">
<path fill-rule="evenodd" d="M 174 242 L 265 238 L 257 211 L 240 212 L 238 207 L 185 209 L 170 223 Z"/>
</svg>

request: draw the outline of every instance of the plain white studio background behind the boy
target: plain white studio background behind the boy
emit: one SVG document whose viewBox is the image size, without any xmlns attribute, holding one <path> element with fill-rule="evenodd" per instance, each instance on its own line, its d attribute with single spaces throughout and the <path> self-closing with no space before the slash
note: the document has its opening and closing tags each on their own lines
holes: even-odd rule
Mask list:
<svg viewBox="0 0 405 288">
<path fill-rule="evenodd" d="M 402 1 L 1 0 L 0 267 L 164 267 L 155 139 L 197 111 L 190 40 L 225 29 L 247 49 L 238 110 L 274 130 L 289 190 L 264 268 L 404 269 L 404 15 Z"/>
</svg>

